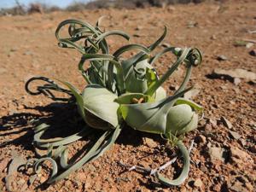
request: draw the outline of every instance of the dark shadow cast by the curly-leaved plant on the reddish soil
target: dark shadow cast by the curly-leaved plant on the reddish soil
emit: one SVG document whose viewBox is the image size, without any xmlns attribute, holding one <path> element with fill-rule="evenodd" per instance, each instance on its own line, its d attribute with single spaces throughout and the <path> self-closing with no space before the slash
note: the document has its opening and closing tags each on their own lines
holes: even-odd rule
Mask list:
<svg viewBox="0 0 256 192">
<path fill-rule="evenodd" d="M 34 147 L 32 145 L 34 136 L 33 127 L 40 123 L 50 125 L 49 131 L 46 131 L 42 137 L 44 139 L 68 137 L 80 131 L 81 127 L 84 125 L 84 120 L 80 118 L 77 107 L 70 103 L 53 102 L 44 107 L 26 107 L 26 110 L 34 111 L 34 113 L 14 113 L 0 118 L 0 123 L 3 125 L 0 127 L 0 137 L 3 138 L 3 142 L 0 143 L 0 148 L 13 145 L 34 151 Z M 96 130 L 96 132 L 94 131 L 92 134 L 92 136 L 89 136 L 90 143 L 85 144 L 83 148 L 73 155 L 71 161 L 77 160 L 82 154 L 84 154 L 84 151 L 86 151 L 86 149 L 95 142 L 96 137 L 99 137 L 102 134 L 102 131 Z M 116 143 L 137 147 L 143 144 L 143 137 L 150 137 L 154 139 L 154 141 L 164 144 L 163 139 L 160 138 L 159 135 L 135 131 L 128 126 L 125 126 L 122 130 Z M 84 137 L 83 139 L 88 140 L 88 137 Z M 156 148 L 153 153 L 145 155 L 149 156 L 155 153 L 159 153 L 159 148 Z M 144 173 L 142 172 L 142 174 Z M 145 186 L 147 185 L 147 188 L 149 189 L 154 189 L 153 185 L 148 186 L 148 183 L 143 183 L 143 181 L 141 184 Z M 155 184 L 157 185 L 157 183 Z M 41 183 L 36 189 L 44 190 L 48 187 L 49 184 Z"/>
</svg>

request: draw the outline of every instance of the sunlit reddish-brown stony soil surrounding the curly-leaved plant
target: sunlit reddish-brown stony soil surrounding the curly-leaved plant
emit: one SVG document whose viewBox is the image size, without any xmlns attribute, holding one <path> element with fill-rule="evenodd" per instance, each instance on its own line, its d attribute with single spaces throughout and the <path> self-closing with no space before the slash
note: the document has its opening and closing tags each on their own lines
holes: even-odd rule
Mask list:
<svg viewBox="0 0 256 192">
<path fill-rule="evenodd" d="M 235 81 L 212 75 L 216 68 L 256 72 L 256 57 L 249 54 L 256 44 L 234 46 L 236 40 L 255 40 L 255 13 L 255 1 L 225 1 L 164 9 L 99 9 L 0 17 L 0 191 L 6 191 L 7 184 L 12 191 L 255 191 L 255 79 Z M 48 164 L 30 186 L 25 172 L 13 174 L 6 183 L 4 177 L 13 156 L 29 159 L 36 155 L 31 119 L 53 122 L 57 131 L 50 134 L 58 137 L 78 129 L 72 121 L 78 115 L 75 108 L 53 103 L 44 96 L 29 96 L 24 84 L 34 75 L 43 75 L 67 80 L 81 90 L 84 79 L 77 68 L 80 55 L 57 46 L 55 28 L 69 18 L 94 24 L 101 15 L 108 16 L 102 24 L 107 30 L 128 32 L 133 43 L 154 42 L 166 25 L 169 32 L 165 44 L 202 50 L 204 60 L 201 67 L 193 70 L 190 83 L 200 90 L 193 100 L 205 108 L 205 118 L 197 130 L 184 137 L 187 147 L 195 141 L 189 178 L 180 187 L 167 188 L 146 173 L 128 172 L 120 166 L 122 161 L 155 168 L 177 153 L 160 136 L 127 127 L 101 158 L 59 183 L 44 184 L 49 176 Z M 125 44 L 116 37 L 108 38 L 108 42 L 111 49 Z M 163 48 L 157 51 L 160 49 Z M 160 74 L 166 72 L 171 59 L 166 55 L 156 64 Z M 183 68 L 164 85 L 169 94 L 176 89 L 182 74 Z M 88 139 L 70 146 L 69 155 L 83 151 Z M 178 160 L 163 172 L 177 177 L 181 166 L 182 160 Z"/>
</svg>

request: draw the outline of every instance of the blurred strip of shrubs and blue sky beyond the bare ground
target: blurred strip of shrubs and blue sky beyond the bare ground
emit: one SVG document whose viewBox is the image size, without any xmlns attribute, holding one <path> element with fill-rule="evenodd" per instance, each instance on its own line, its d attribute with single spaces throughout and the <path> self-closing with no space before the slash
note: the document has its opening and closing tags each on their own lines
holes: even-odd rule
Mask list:
<svg viewBox="0 0 256 192">
<path fill-rule="evenodd" d="M 201 3 L 210 1 L 211 0 L 1 0 L 0 15 L 26 15 L 35 12 L 47 13 L 56 10 L 79 11 L 83 9 L 102 8 L 163 8 L 176 3 Z M 212 0 L 212 2 L 216 2 L 216 0 Z"/>
</svg>

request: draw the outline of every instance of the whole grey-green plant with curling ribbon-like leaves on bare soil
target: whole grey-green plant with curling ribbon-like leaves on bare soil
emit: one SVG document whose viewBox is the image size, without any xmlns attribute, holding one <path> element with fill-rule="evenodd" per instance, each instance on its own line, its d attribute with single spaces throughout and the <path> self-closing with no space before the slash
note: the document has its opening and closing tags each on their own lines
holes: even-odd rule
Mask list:
<svg viewBox="0 0 256 192">
<path fill-rule="evenodd" d="M 192 67 L 201 64 L 201 52 L 196 48 L 168 47 L 156 55 L 150 55 L 166 37 L 165 27 L 160 38 L 148 47 L 127 44 L 110 54 L 106 38 L 118 35 L 129 40 L 129 35 L 120 31 L 103 32 L 99 26 L 100 20 L 96 22 L 96 26 L 80 20 L 64 20 L 55 32 L 60 47 L 77 49 L 82 54 L 79 71 L 87 82 L 84 90 L 77 90 L 72 84 L 61 81 L 68 88 L 64 89 L 44 77 L 34 77 L 27 81 L 26 91 L 32 95 L 44 94 L 55 101 L 67 101 L 71 104 L 75 102 L 85 123 L 83 129 L 72 136 L 51 139 L 41 138 L 50 126 L 44 123 L 37 125 L 34 129 L 34 145 L 48 150 L 48 153 L 40 159 L 28 160 L 26 166 L 33 166 L 36 175 L 41 170 L 42 163 L 50 161 L 53 171 L 47 182 L 55 183 L 91 160 L 96 160 L 113 145 L 120 131 L 129 125 L 137 131 L 160 134 L 177 145 L 183 155 L 183 171 L 180 176 L 170 180 L 160 172 L 154 172 L 154 177 L 168 186 L 179 185 L 189 174 L 189 152 L 180 136 L 197 127 L 198 115 L 202 113 L 201 106 L 183 98 L 184 93 L 191 90 L 186 86 Z M 60 35 L 64 26 L 68 26 L 68 38 Z M 133 49 L 138 51 L 137 55 L 128 59 L 122 57 L 125 52 Z M 167 52 L 176 55 L 177 61 L 159 77 L 153 65 Z M 85 62 L 89 63 L 86 69 Z M 172 96 L 166 96 L 166 90 L 161 85 L 180 65 L 186 67 L 183 82 Z M 33 92 L 29 89 L 29 84 L 34 80 L 44 80 L 47 83 L 38 86 L 37 92 Z M 55 97 L 52 90 L 67 93 L 70 97 Z M 68 163 L 67 145 L 88 136 L 94 129 L 103 130 L 102 136 L 88 148 L 83 157 L 74 163 Z M 57 162 L 60 162 L 59 165 Z M 58 172 L 60 167 L 61 173 Z"/>
</svg>

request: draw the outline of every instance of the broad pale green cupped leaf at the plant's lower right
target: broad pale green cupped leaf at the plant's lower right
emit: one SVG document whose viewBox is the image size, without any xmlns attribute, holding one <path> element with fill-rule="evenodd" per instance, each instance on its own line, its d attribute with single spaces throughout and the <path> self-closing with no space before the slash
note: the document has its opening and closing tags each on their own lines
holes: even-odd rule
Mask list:
<svg viewBox="0 0 256 192">
<path fill-rule="evenodd" d="M 153 103 L 123 104 L 120 105 L 125 122 L 139 131 L 147 131 L 158 134 L 176 133 L 181 130 L 190 130 L 190 121 L 195 121 L 197 116 L 189 105 L 181 104 L 173 106 L 178 96 L 188 90 L 184 90 L 175 96 Z M 186 127 L 189 125 L 189 127 Z"/>
</svg>

